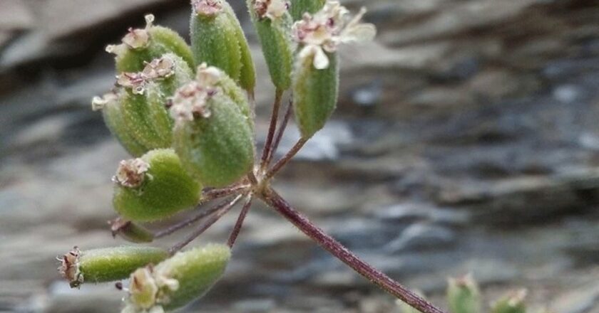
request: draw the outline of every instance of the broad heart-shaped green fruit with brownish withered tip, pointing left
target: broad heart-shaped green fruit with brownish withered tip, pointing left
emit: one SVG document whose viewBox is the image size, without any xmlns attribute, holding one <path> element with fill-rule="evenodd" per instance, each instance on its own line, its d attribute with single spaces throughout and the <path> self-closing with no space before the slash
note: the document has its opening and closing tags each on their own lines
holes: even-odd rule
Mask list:
<svg viewBox="0 0 599 313">
<path fill-rule="evenodd" d="M 201 186 L 181 166 L 172 149 L 157 149 L 121 161 L 113 177 L 113 205 L 131 221 L 156 221 L 195 206 Z"/>
</svg>

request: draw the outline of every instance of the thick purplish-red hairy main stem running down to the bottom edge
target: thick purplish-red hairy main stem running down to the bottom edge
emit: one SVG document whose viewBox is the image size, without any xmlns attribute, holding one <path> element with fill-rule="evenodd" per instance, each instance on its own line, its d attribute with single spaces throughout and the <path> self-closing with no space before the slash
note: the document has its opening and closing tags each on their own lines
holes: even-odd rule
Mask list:
<svg viewBox="0 0 599 313">
<path fill-rule="evenodd" d="M 367 280 L 374 282 L 374 284 L 378 285 L 386 292 L 389 292 L 389 294 L 401 299 L 401 301 L 406 302 L 420 312 L 444 313 L 441 309 L 434 307 L 430 302 L 427 302 L 422 297 L 414 294 L 414 292 L 406 289 L 406 287 L 399 284 L 399 282 L 392 280 L 391 277 L 358 258 L 352 251 L 349 251 L 344 245 L 339 243 L 339 241 L 335 240 L 327 233 L 324 233 L 322 229 L 310 222 L 307 217 L 302 215 L 302 213 L 295 211 L 295 209 L 292 208 L 276 191 L 268 188 L 261 196 L 268 205 L 275 208 L 277 212 L 287 218 L 287 220 L 293 223 L 299 230 L 302 230 L 304 234 L 308 235 L 312 240 L 316 241 L 322 248 L 329 251 L 329 253 L 336 258 L 349 265 L 349 267 L 352 267 L 352 269 L 360 275 L 366 277 Z"/>
</svg>

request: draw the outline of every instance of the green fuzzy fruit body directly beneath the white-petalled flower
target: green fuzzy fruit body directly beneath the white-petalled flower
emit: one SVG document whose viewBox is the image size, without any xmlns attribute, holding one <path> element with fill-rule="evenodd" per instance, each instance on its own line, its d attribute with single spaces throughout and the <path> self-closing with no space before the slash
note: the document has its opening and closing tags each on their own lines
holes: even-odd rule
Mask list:
<svg viewBox="0 0 599 313">
<path fill-rule="evenodd" d="M 308 139 L 318 132 L 337 107 L 337 53 L 327 53 L 329 65 L 314 68 L 312 58 L 298 58 L 293 77 L 294 112 L 299 132 Z"/>
</svg>

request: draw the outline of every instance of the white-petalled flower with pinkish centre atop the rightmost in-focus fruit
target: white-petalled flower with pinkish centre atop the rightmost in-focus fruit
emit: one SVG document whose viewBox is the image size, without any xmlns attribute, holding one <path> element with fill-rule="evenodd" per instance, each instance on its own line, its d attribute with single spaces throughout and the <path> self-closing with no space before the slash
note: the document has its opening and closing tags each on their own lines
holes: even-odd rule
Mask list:
<svg viewBox="0 0 599 313">
<path fill-rule="evenodd" d="M 329 67 L 325 51 L 335 52 L 341 43 L 372 40 L 377 28 L 360 22 L 365 13 L 366 9 L 362 8 L 351 18 L 339 1 L 327 1 L 314 16 L 304 14 L 293 26 L 294 40 L 303 45 L 299 58 L 314 58 L 314 68 L 322 70 Z"/>
</svg>

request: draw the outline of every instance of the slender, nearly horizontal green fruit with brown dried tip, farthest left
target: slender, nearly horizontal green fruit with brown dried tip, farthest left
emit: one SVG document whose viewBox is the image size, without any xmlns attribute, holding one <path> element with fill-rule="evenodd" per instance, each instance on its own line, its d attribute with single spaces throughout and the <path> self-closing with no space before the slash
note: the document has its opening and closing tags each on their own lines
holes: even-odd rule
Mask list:
<svg viewBox="0 0 599 313">
<path fill-rule="evenodd" d="M 71 287 L 83 282 L 122 280 L 138 267 L 158 263 L 168 257 L 165 250 L 151 247 L 116 247 L 81 251 L 77 247 L 62 258 L 58 271 Z"/>
</svg>

